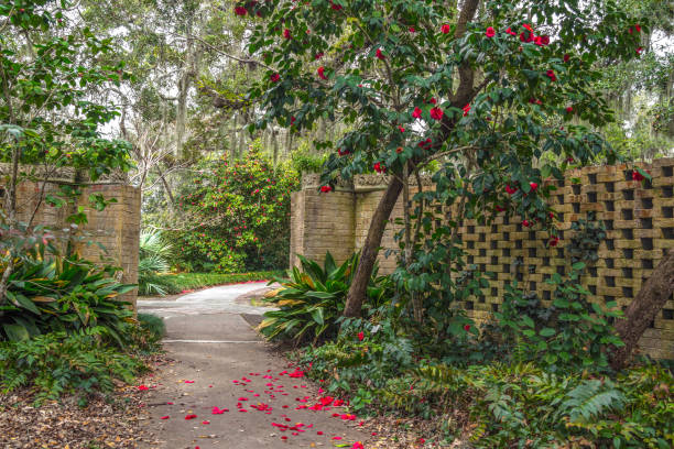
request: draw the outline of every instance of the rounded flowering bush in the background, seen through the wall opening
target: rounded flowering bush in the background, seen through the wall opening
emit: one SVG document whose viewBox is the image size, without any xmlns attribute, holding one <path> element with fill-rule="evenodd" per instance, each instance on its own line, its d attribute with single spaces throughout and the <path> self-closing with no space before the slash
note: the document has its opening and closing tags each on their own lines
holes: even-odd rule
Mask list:
<svg viewBox="0 0 674 449">
<path fill-rule="evenodd" d="M 274 167 L 256 147 L 241 161 L 220 158 L 202 168 L 180 202 L 188 230 L 174 233 L 175 262 L 221 273 L 285 266 L 296 172 Z"/>
</svg>

